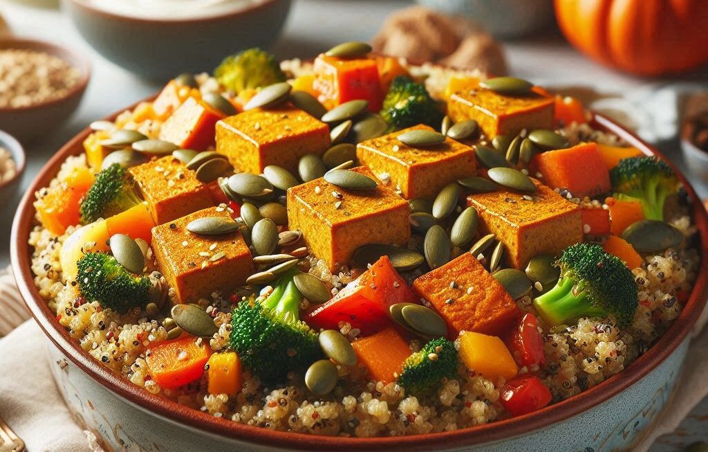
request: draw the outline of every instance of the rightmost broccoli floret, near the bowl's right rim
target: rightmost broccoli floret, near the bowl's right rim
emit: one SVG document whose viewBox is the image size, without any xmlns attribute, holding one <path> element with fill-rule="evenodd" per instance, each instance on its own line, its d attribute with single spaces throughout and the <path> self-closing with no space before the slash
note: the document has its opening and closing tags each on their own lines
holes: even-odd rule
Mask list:
<svg viewBox="0 0 708 452">
<path fill-rule="evenodd" d="M 615 198 L 641 201 L 648 220 L 663 221 L 664 201 L 680 186 L 673 169 L 656 157 L 622 159 L 610 171 L 610 177 Z"/>
</svg>

